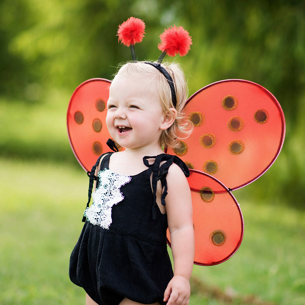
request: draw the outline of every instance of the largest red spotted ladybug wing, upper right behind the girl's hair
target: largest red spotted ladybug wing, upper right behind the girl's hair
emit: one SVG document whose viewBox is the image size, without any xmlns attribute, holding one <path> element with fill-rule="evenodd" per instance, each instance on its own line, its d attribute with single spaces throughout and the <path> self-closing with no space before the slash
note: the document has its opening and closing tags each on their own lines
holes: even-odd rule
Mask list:
<svg viewBox="0 0 305 305">
<path fill-rule="evenodd" d="M 232 190 L 260 177 L 282 148 L 282 108 L 269 91 L 253 82 L 210 84 L 193 94 L 184 110 L 194 131 L 180 148 L 167 149 L 167 153 Z"/>
</svg>

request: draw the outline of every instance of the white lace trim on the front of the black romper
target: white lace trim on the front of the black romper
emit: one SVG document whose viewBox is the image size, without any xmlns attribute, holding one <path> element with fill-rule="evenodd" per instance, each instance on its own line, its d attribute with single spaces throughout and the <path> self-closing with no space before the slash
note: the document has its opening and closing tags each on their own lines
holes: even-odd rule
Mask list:
<svg viewBox="0 0 305 305">
<path fill-rule="evenodd" d="M 129 176 L 113 173 L 111 170 L 99 171 L 99 187 L 92 193 L 93 203 L 88 207 L 84 215 L 91 224 L 109 229 L 112 223 L 112 206 L 124 199 L 120 187 L 131 180 Z"/>
</svg>

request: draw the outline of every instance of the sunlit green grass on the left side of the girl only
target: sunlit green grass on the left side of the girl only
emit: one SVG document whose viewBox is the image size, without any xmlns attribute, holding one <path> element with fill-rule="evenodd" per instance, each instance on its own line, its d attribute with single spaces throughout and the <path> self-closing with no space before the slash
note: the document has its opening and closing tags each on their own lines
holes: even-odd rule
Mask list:
<svg viewBox="0 0 305 305">
<path fill-rule="evenodd" d="M 0 164 L 0 303 L 80 303 L 84 292 L 71 285 L 68 266 L 86 203 L 85 173 L 51 163 Z"/>
</svg>

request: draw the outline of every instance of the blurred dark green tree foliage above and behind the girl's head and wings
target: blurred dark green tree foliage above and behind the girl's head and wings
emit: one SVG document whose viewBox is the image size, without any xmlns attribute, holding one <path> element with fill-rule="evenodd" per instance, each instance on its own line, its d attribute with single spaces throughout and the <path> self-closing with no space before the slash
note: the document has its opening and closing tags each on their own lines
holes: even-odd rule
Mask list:
<svg viewBox="0 0 305 305">
<path fill-rule="evenodd" d="M 136 45 L 139 59 L 157 59 L 164 27 L 183 26 L 193 45 L 188 56 L 175 60 L 190 75 L 190 93 L 214 81 L 241 78 L 277 97 L 287 121 L 281 183 L 305 195 L 304 167 L 296 157 L 305 149 L 300 138 L 303 0 L 2 0 L 0 10 L 0 94 L 25 101 L 43 101 L 40 94 L 54 87 L 72 93 L 88 78 L 110 79 L 120 62 L 131 59 L 115 36 L 130 16 L 146 24 L 145 40 Z"/>
</svg>

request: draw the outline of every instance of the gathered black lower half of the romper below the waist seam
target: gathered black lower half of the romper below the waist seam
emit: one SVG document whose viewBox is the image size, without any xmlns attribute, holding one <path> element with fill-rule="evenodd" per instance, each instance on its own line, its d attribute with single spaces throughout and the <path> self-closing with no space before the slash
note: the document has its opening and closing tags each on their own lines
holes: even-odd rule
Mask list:
<svg viewBox="0 0 305 305">
<path fill-rule="evenodd" d="M 143 304 L 163 304 L 173 270 L 166 244 L 139 240 L 86 221 L 70 257 L 69 275 L 100 305 L 119 304 L 125 297 Z"/>
</svg>

